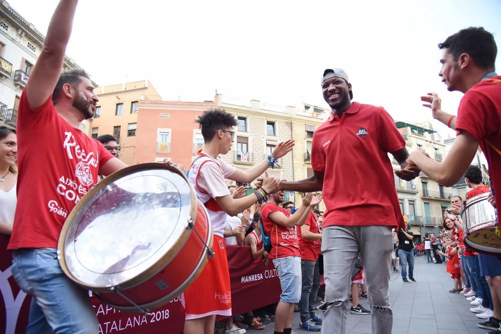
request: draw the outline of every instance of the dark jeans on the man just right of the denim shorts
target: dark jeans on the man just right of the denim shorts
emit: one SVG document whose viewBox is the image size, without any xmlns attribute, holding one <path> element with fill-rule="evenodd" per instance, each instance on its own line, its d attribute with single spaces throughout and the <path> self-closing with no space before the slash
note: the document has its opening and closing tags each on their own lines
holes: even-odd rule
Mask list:
<svg viewBox="0 0 501 334">
<path fill-rule="evenodd" d="M 315 315 L 315 304 L 317 303 L 317 293 L 320 287 L 320 267 L 318 261 L 301 260 L 301 271 L 303 272 L 303 282 L 299 312 L 301 322 L 305 322 L 312 315 Z"/>
</svg>

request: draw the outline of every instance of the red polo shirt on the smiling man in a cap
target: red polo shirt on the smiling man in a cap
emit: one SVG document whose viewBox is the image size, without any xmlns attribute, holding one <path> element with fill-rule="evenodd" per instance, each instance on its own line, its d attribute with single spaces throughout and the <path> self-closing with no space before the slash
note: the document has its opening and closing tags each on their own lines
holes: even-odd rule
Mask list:
<svg viewBox="0 0 501 334">
<path fill-rule="evenodd" d="M 324 173 L 327 211 L 333 225 L 397 225 L 404 221 L 388 153 L 405 140 L 382 107 L 354 102 L 341 118 L 332 115 L 313 134 L 311 163 Z"/>
</svg>

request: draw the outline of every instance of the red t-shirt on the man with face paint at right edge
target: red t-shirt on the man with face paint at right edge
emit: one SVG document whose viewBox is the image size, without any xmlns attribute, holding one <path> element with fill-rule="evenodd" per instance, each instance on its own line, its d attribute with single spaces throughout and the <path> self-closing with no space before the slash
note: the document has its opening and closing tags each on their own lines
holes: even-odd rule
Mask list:
<svg viewBox="0 0 501 334">
<path fill-rule="evenodd" d="M 501 151 L 501 76 L 480 81 L 464 94 L 457 110 L 456 131 L 466 131 L 478 141 L 489 164 L 496 203 L 501 203 L 501 154 L 496 152 Z"/>
</svg>

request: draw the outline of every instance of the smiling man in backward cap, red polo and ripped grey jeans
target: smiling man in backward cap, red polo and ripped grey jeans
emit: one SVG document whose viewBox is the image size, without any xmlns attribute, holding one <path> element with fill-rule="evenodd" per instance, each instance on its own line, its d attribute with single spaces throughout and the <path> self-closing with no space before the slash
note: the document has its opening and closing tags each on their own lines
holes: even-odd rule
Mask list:
<svg viewBox="0 0 501 334">
<path fill-rule="evenodd" d="M 313 176 L 285 182 L 280 188 L 302 192 L 323 189 L 327 211 L 323 220 L 322 253 L 326 283 L 323 328 L 346 332 L 348 289 L 359 251 L 365 263 L 372 331 L 391 333 L 392 310 L 388 299 L 387 263 L 394 227 L 403 227 L 393 169 L 388 153 L 402 167 L 408 152 L 405 140 L 382 108 L 352 103 L 352 86 L 341 69 L 327 69 L 322 92 L 332 113 L 314 133 Z M 401 177 L 419 174 L 407 169 Z"/>
</svg>

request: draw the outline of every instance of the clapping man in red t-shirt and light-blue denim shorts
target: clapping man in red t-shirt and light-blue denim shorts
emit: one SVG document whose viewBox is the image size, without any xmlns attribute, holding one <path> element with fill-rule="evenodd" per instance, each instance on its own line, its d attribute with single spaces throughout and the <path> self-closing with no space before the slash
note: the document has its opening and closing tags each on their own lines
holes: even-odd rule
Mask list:
<svg viewBox="0 0 501 334">
<path fill-rule="evenodd" d="M 265 233 L 270 236 L 272 249 L 269 257 L 277 269 L 282 287 L 280 302 L 275 312 L 275 333 L 291 334 L 294 306 L 301 299 L 301 252 L 296 226 L 302 226 L 311 209 L 320 203 L 322 195 L 307 194 L 301 207 L 291 214 L 280 207 L 284 191 L 271 194 L 261 209 Z"/>
</svg>

